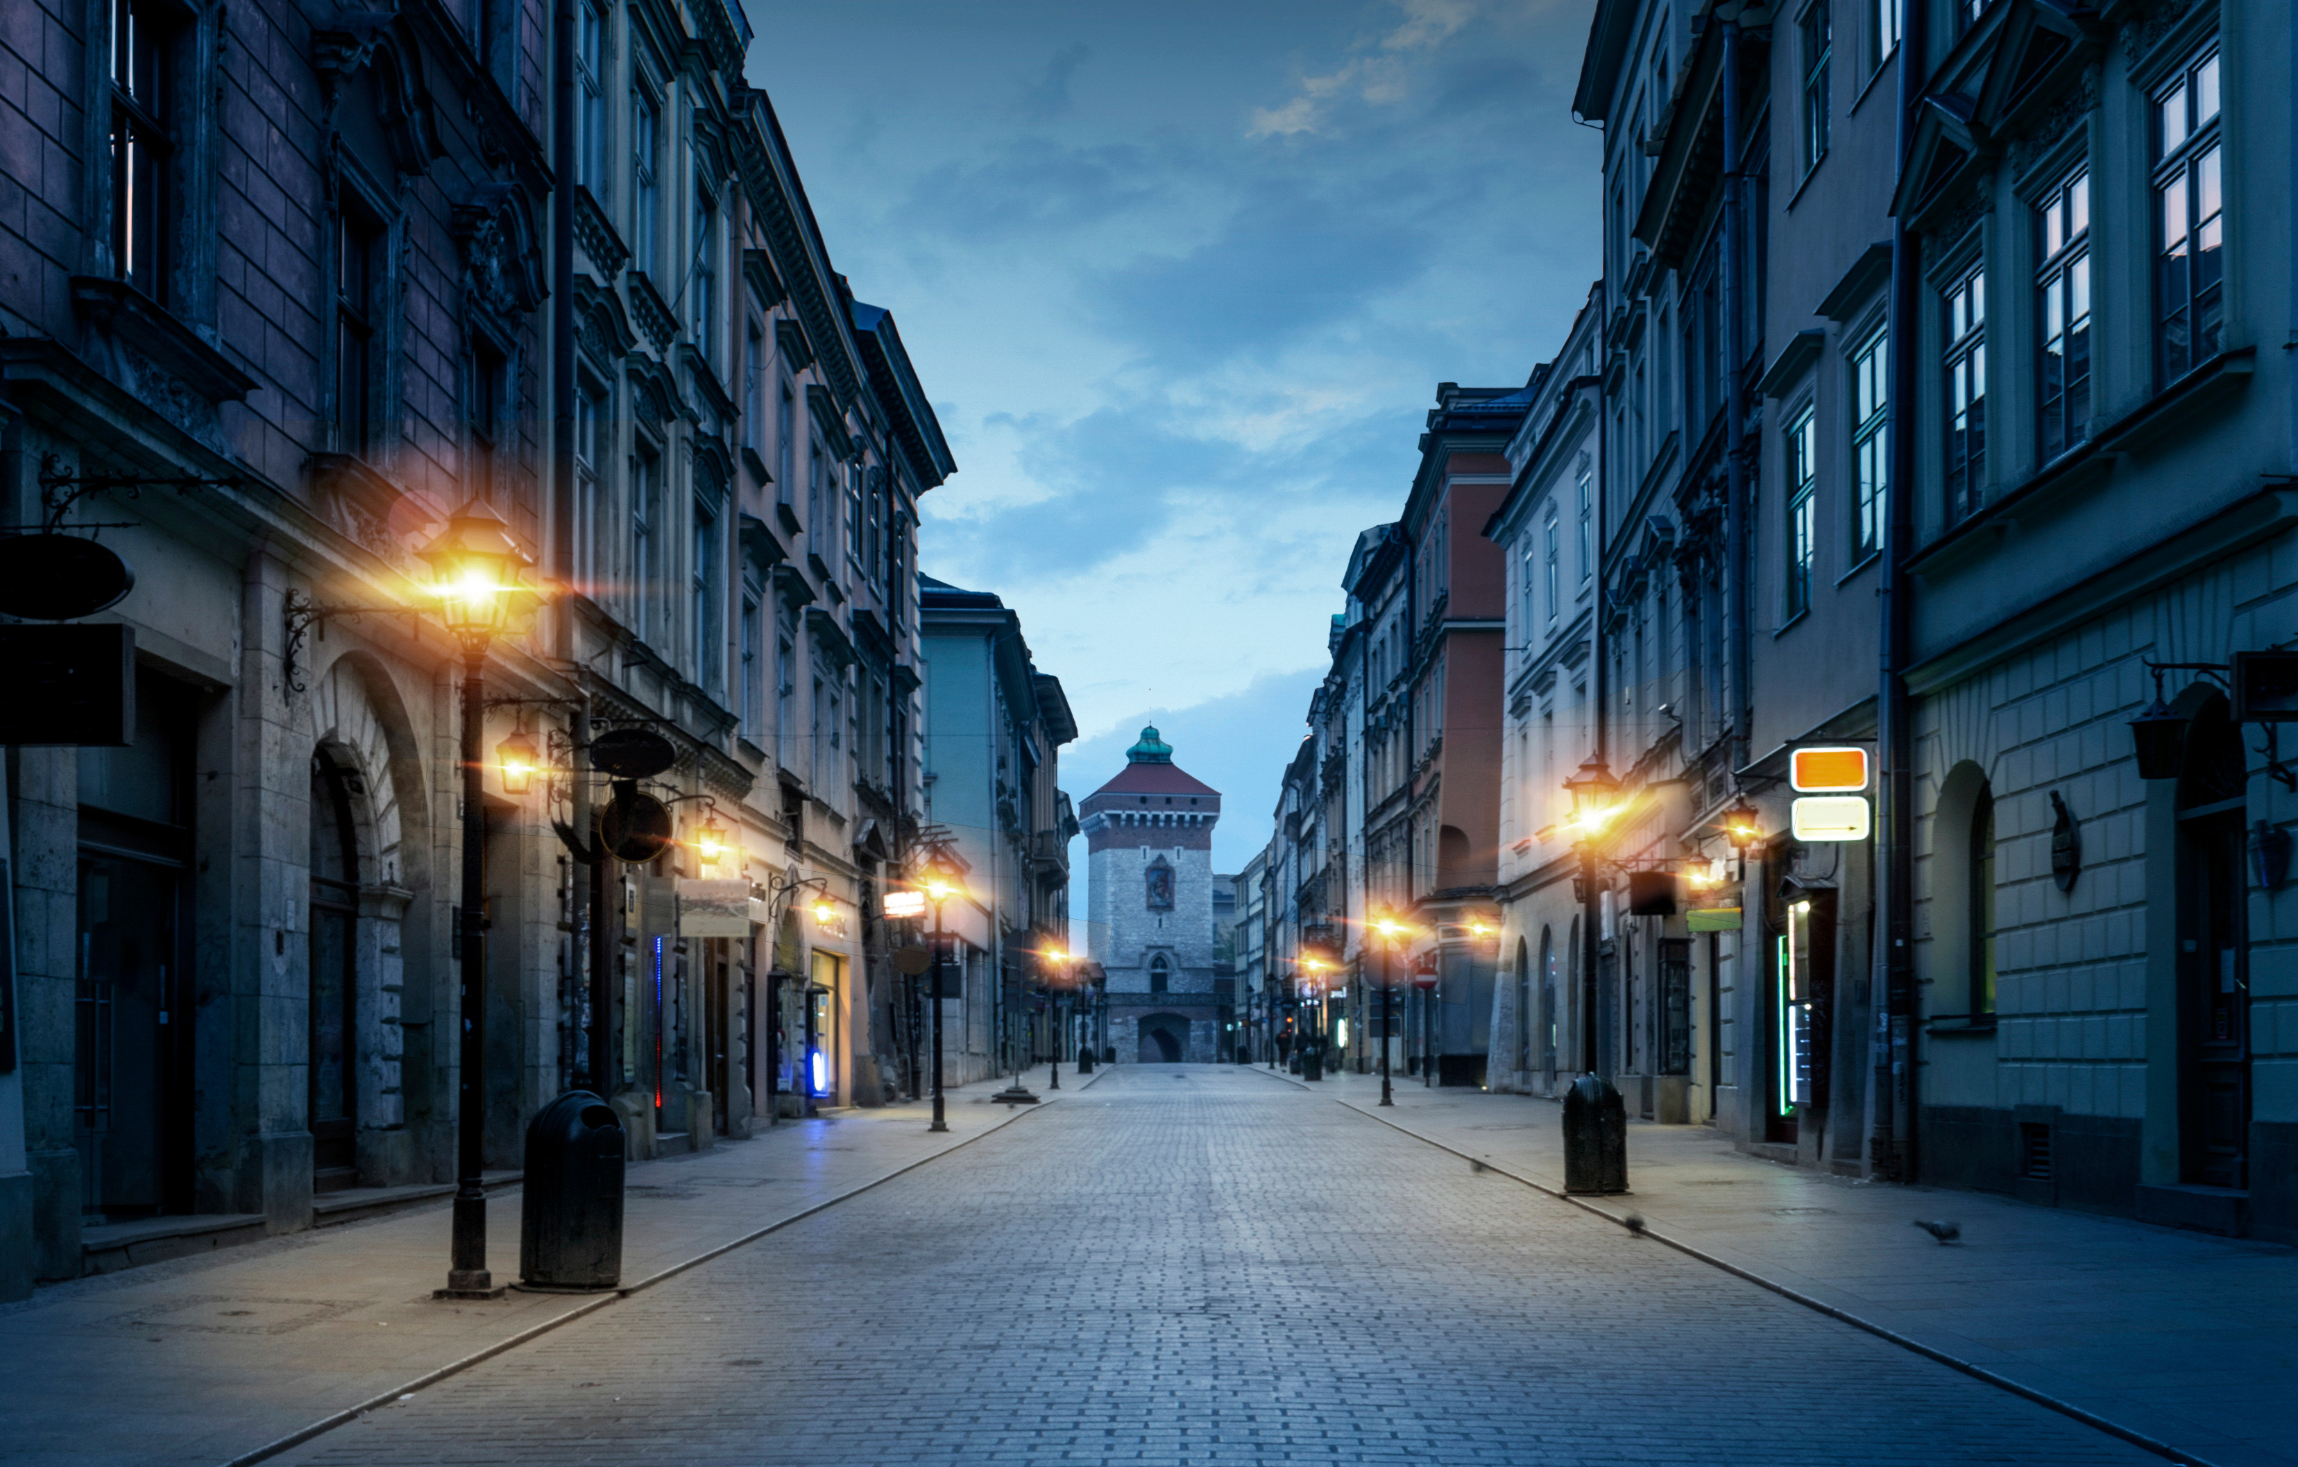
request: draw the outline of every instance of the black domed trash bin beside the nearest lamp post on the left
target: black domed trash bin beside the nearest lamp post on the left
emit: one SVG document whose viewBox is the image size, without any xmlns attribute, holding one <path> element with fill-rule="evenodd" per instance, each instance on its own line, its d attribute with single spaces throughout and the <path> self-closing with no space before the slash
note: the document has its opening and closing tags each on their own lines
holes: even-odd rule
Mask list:
<svg viewBox="0 0 2298 1467">
<path fill-rule="evenodd" d="M 524 1288 L 614 1288 L 623 1281 L 623 1118 L 588 1090 L 568 1090 L 526 1127 L 519 1208 Z"/>
</svg>

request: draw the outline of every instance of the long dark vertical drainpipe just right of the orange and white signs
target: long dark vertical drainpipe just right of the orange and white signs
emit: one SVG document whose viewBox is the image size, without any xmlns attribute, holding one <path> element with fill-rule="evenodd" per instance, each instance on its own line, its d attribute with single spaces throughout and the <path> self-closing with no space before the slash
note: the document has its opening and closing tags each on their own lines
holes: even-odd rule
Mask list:
<svg viewBox="0 0 2298 1467">
<path fill-rule="evenodd" d="M 1898 41 L 1898 172 L 1907 170 L 1914 142 L 1914 108 L 1921 96 L 1921 37 L 1928 23 L 1923 0 L 1907 0 Z M 1884 484 L 1884 551 L 1880 613 L 1880 680 L 1875 686 L 1877 767 L 1882 774 L 1882 826 L 1875 840 L 1875 893 L 1882 921 L 1875 932 L 1875 985 L 1882 996 L 1875 1015 L 1875 1056 L 1868 1063 L 1868 1169 L 1875 1175 L 1912 1182 L 1914 1148 L 1914 737 L 1907 707 L 1907 643 L 1912 624 L 1912 588 L 1907 551 L 1914 549 L 1914 432 L 1912 409 L 1921 383 L 1917 370 L 1914 326 L 1919 319 L 1921 250 L 1900 218 L 1891 220 L 1891 475 Z"/>
</svg>

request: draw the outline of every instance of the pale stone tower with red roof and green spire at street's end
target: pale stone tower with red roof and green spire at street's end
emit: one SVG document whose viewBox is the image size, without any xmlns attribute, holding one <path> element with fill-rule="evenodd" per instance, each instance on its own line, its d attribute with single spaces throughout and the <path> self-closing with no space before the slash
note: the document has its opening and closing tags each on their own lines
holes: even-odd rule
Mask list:
<svg viewBox="0 0 2298 1467">
<path fill-rule="evenodd" d="M 1108 971 L 1117 1063 L 1213 1063 L 1213 822 L 1220 792 L 1144 728 L 1124 771 L 1078 806 L 1089 861 L 1087 932 Z"/>
</svg>

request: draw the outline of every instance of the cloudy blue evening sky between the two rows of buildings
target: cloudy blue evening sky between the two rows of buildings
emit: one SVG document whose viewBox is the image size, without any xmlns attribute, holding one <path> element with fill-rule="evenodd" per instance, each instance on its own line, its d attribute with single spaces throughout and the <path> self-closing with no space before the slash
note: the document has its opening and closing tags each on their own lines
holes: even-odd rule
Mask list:
<svg viewBox="0 0 2298 1467">
<path fill-rule="evenodd" d="M 1216 868 L 1268 838 L 1436 383 L 1521 383 L 1586 298 L 1588 14 L 749 0 L 832 262 L 958 459 L 924 569 L 1020 613 L 1078 714 L 1073 797 L 1156 721 L 1227 797 Z"/>
</svg>

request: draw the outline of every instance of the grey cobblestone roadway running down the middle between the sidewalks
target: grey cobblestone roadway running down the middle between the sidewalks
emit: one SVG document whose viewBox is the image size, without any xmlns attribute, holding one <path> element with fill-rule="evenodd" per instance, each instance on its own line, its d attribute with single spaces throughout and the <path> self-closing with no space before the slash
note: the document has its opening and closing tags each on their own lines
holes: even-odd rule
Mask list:
<svg viewBox="0 0 2298 1467">
<path fill-rule="evenodd" d="M 287 1462 L 2153 1462 L 1319 1095 L 1119 1068 Z"/>
</svg>

